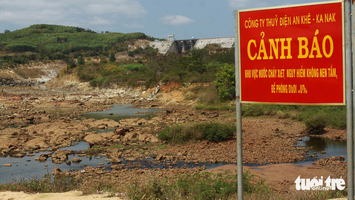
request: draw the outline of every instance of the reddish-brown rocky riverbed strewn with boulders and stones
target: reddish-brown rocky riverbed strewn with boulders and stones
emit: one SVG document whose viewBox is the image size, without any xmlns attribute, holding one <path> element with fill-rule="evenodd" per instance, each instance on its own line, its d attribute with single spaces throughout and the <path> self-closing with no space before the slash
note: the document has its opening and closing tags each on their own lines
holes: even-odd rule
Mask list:
<svg viewBox="0 0 355 200">
<path fill-rule="evenodd" d="M 198 173 L 204 164 L 236 163 L 235 137 L 225 142 L 195 141 L 186 144 L 167 144 L 157 136 L 167 126 L 175 124 L 235 122 L 235 112 L 188 109 L 189 103 L 166 103 L 165 100 L 138 98 L 132 92 L 111 90 L 73 91 L 49 90 L 41 86 L 31 88 L 3 88 L 0 93 L 0 156 L 31 157 L 35 152 L 50 151 L 35 158 L 35 162 L 51 160 L 53 163 L 80 162 L 69 155 L 107 158 L 105 166 L 84 166 L 79 170 L 61 171 L 81 180 L 83 185 L 98 179 L 116 180 L 125 184 L 149 176 L 173 176 L 181 173 Z M 177 91 L 174 91 L 177 92 Z M 164 115 L 151 118 L 121 120 L 86 119 L 82 115 L 91 111 L 107 110 L 114 104 L 129 103 L 135 108 L 163 108 Z M 66 112 L 51 113 L 39 108 L 68 108 Z M 137 113 L 137 116 L 142 113 Z M 108 114 L 109 115 L 109 114 Z M 14 125 L 14 127 L 8 127 Z M 100 133 L 99 130 L 112 130 Z M 275 117 L 243 118 L 244 164 L 280 164 L 305 160 L 308 148 L 298 146 L 304 125 L 291 119 Z M 346 133 L 328 129 L 325 137 L 343 140 Z M 98 133 L 99 132 L 99 133 Z M 74 143 L 85 141 L 88 149 L 63 150 Z M 310 155 L 312 156 L 312 155 Z M 314 156 L 314 155 L 313 155 Z M 340 156 L 340 155 L 339 155 Z M 0 157 L 1 159 L 1 157 Z M 165 167 L 142 166 L 161 164 Z M 332 159 L 331 159 L 332 160 Z M 128 161 L 128 164 L 122 164 Z M 179 166 L 177 163 L 194 166 Z M 108 165 L 107 165 L 108 164 Z M 335 162 L 317 163 L 333 166 Z M 1 170 L 1 169 L 0 169 Z M 343 175 L 343 173 L 339 173 Z"/>
</svg>

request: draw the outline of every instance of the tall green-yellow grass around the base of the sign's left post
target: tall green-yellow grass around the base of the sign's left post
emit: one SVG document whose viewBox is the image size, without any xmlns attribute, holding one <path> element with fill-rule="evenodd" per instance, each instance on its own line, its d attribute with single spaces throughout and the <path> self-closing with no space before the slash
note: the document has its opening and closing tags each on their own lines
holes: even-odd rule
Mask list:
<svg viewBox="0 0 355 200">
<path fill-rule="evenodd" d="M 245 193 L 269 190 L 259 177 L 246 172 L 243 174 Z M 127 187 L 127 196 L 132 200 L 173 199 L 213 200 L 235 199 L 237 196 L 237 175 L 231 171 L 213 174 L 208 172 L 181 174 L 175 178 L 156 178 L 146 182 L 134 182 Z"/>
</svg>

